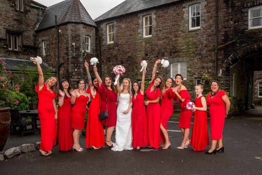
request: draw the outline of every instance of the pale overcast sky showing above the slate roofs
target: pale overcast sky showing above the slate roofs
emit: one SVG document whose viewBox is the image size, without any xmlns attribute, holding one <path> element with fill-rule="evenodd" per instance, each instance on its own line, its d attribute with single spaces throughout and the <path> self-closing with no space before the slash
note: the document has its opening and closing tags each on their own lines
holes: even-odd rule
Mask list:
<svg viewBox="0 0 262 175">
<path fill-rule="evenodd" d="M 64 0 L 35 0 L 47 7 Z M 108 10 L 119 5 L 124 0 L 80 0 L 92 19 L 98 18 Z"/>
</svg>

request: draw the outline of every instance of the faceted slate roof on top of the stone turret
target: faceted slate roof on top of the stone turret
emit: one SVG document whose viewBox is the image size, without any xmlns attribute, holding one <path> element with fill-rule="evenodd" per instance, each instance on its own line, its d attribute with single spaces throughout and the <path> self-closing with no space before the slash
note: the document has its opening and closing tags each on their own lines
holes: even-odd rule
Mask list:
<svg viewBox="0 0 262 175">
<path fill-rule="evenodd" d="M 64 0 L 46 8 L 44 17 L 37 31 L 54 27 L 55 14 L 57 14 L 58 25 L 65 23 L 83 23 L 94 27 L 97 26 L 80 0 Z"/>
</svg>

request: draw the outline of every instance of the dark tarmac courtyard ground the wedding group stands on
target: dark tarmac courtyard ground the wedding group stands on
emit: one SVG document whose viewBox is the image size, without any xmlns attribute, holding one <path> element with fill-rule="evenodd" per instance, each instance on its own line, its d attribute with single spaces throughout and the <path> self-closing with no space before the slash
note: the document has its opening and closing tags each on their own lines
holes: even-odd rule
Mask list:
<svg viewBox="0 0 262 175">
<path fill-rule="evenodd" d="M 224 153 L 205 155 L 204 152 L 193 151 L 191 147 L 176 149 L 180 146 L 182 135 L 178 117 L 172 117 L 168 123 L 171 149 L 114 152 L 101 148 L 59 152 L 58 146 L 55 146 L 53 154 L 48 157 L 40 156 L 37 150 L 1 161 L 0 174 L 262 175 L 262 113 L 256 110 L 247 116 L 226 119 Z M 112 140 L 115 140 L 114 136 Z M 40 141 L 40 133 L 24 137 L 9 136 L 4 150 L 37 141 Z M 82 147 L 85 145 L 85 136 L 81 136 L 80 143 Z"/>
</svg>

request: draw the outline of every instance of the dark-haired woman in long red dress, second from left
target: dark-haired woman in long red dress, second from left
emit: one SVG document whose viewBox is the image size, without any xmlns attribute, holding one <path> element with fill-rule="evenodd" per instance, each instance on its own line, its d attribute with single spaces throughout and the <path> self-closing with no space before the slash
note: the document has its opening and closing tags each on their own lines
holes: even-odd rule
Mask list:
<svg viewBox="0 0 262 175">
<path fill-rule="evenodd" d="M 70 112 L 71 95 L 74 90 L 70 88 L 67 80 L 60 80 L 58 95 L 58 149 L 69 151 L 73 146 L 73 136 L 71 132 Z"/>
</svg>

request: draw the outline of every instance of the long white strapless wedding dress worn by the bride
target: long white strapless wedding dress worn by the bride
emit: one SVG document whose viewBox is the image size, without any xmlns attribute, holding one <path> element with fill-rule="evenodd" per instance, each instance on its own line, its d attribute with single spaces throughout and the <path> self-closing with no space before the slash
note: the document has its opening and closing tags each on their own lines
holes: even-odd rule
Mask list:
<svg viewBox="0 0 262 175">
<path fill-rule="evenodd" d="M 119 96 L 119 105 L 117 108 L 117 125 L 116 125 L 116 143 L 113 143 L 113 151 L 132 150 L 132 129 L 131 113 L 132 108 L 127 114 L 124 111 L 128 108 L 130 94 L 121 93 Z"/>
</svg>

